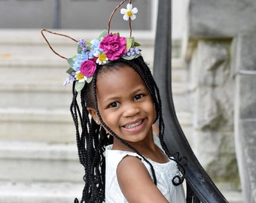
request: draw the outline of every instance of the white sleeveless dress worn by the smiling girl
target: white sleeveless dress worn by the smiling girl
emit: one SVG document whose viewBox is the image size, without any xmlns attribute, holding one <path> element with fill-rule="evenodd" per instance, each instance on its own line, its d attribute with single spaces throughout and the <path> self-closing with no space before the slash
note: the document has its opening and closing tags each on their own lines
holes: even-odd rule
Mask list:
<svg viewBox="0 0 256 203">
<path fill-rule="evenodd" d="M 157 135 L 154 135 L 154 142 L 160 149 L 160 141 Z M 117 165 L 125 156 L 136 156 L 142 160 L 142 163 L 148 169 L 149 174 L 153 180 L 151 174 L 151 168 L 147 162 L 137 153 L 111 150 L 112 145 L 108 145 L 105 150 L 106 159 L 106 171 L 105 171 L 105 203 L 127 203 L 128 201 L 121 192 L 120 186 L 117 181 Z M 171 203 L 185 203 L 184 188 L 182 185 L 174 186 L 172 184 L 172 178 L 175 175 L 179 175 L 176 162 L 169 160 L 166 163 L 157 163 L 148 159 L 154 167 L 154 171 L 157 177 L 157 188 L 162 192 L 166 199 Z"/>
</svg>

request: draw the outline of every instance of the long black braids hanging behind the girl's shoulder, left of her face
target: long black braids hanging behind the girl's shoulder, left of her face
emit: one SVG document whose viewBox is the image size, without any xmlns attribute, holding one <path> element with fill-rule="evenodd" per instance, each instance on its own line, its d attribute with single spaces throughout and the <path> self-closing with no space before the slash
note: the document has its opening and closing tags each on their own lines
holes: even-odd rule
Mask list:
<svg viewBox="0 0 256 203">
<path fill-rule="evenodd" d="M 84 93 L 81 93 L 81 108 L 79 107 L 75 83 L 72 92 L 70 111 L 75 123 L 79 161 L 84 166 L 84 189 L 80 202 L 102 203 L 105 201 L 105 146 L 112 144 L 113 139 L 90 118 Z M 77 198 L 75 202 L 78 203 Z"/>
</svg>

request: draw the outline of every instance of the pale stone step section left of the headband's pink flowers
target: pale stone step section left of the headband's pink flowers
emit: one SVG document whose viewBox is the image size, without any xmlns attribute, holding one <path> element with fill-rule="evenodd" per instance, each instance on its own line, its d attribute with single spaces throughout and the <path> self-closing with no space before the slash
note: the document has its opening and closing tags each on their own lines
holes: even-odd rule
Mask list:
<svg viewBox="0 0 256 203">
<path fill-rule="evenodd" d="M 60 83 L 67 77 L 66 60 L 47 59 L 44 56 L 11 56 L 0 59 L 2 82 L 9 83 Z M 61 80 L 62 79 L 62 80 Z"/>
</svg>

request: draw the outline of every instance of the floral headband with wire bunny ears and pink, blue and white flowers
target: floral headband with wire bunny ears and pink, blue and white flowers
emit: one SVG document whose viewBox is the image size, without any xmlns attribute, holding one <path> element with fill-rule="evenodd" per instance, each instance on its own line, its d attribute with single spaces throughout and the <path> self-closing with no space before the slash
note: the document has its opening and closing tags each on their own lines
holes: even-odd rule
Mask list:
<svg viewBox="0 0 256 203">
<path fill-rule="evenodd" d="M 84 39 L 76 41 L 74 38 L 71 38 L 68 35 L 62 35 L 56 32 L 51 32 L 47 29 L 41 29 L 41 35 L 43 35 L 44 40 L 47 42 L 51 50 L 53 50 L 53 47 L 50 46 L 50 43 L 44 36 L 44 32 L 64 36 L 78 43 L 78 53 L 71 58 L 61 56 L 59 53 L 56 53 L 56 51 L 53 50 L 53 53 L 56 53 L 56 55 L 62 57 L 63 59 L 67 59 L 70 66 L 70 68 L 66 71 L 69 74 L 69 77 L 67 77 L 64 81 L 64 86 L 75 80 L 75 89 L 77 92 L 79 92 L 84 88 L 85 83 L 90 83 L 92 81 L 97 65 L 105 65 L 108 62 L 120 58 L 132 60 L 141 56 L 141 50 L 139 49 L 140 44 L 134 41 L 134 38 L 132 37 L 131 20 L 136 19 L 135 14 L 138 12 L 138 9 L 133 8 L 131 0 L 126 6 L 126 9 L 120 9 L 120 14 L 123 14 L 123 20 L 129 20 L 130 37 L 125 38 L 121 37 L 119 33 L 109 33 L 111 19 L 115 11 L 117 11 L 117 9 L 120 8 L 125 1 L 126 0 L 123 0 L 112 12 L 111 17 L 108 20 L 108 32 L 102 32 L 98 38 L 94 38 L 92 41 L 85 41 Z"/>
</svg>

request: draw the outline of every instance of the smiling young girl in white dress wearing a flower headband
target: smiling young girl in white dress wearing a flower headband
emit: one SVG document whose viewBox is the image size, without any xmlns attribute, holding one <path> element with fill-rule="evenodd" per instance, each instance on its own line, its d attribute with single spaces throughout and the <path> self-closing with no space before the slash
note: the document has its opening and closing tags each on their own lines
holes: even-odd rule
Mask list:
<svg viewBox="0 0 256 203">
<path fill-rule="evenodd" d="M 130 12 L 130 19 L 136 11 L 128 4 L 121 13 Z M 185 202 L 183 176 L 163 142 L 159 90 L 134 38 L 103 32 L 79 41 L 68 62 L 85 170 L 81 202 Z M 152 129 L 157 120 L 158 136 Z"/>
</svg>

